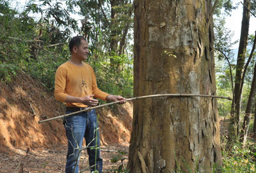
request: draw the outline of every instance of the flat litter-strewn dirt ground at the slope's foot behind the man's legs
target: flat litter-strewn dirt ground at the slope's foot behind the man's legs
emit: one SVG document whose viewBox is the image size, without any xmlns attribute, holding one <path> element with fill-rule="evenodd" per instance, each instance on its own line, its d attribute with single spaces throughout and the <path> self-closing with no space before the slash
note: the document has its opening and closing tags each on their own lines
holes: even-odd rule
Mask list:
<svg viewBox="0 0 256 173">
<path fill-rule="evenodd" d="M 102 146 L 102 149 L 111 149 L 116 151 L 124 151 L 126 154 L 123 155 L 127 158 L 128 146 Z M 28 154 L 26 151 L 28 149 L 13 149 L 9 152 L 1 151 L 0 153 L 0 172 L 10 173 L 10 172 L 65 172 L 65 157 L 66 157 L 66 146 L 56 146 L 51 149 L 38 148 L 29 149 Z M 111 163 L 111 158 L 117 156 L 118 153 L 102 151 L 102 158 L 104 160 L 103 170 L 104 172 L 110 172 L 113 167 L 118 167 L 121 162 Z M 127 159 L 124 160 L 127 164 Z M 83 164 L 83 165 L 82 165 Z M 86 152 L 82 152 L 79 167 L 83 169 L 88 168 L 88 156 Z M 90 172 L 86 170 L 84 172 Z"/>
</svg>

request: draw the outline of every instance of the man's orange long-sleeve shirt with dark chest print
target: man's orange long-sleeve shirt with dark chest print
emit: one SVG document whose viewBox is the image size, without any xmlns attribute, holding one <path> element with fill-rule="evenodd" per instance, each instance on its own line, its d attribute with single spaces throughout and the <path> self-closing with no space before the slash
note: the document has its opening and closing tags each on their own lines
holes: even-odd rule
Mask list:
<svg viewBox="0 0 256 173">
<path fill-rule="evenodd" d="M 83 97 L 92 94 L 95 98 L 102 100 L 106 100 L 109 95 L 97 87 L 95 73 L 89 64 L 75 66 L 67 61 L 59 66 L 55 74 L 54 96 L 56 100 L 65 102 L 67 95 Z M 87 107 L 83 103 L 66 103 L 66 106 Z"/>
</svg>

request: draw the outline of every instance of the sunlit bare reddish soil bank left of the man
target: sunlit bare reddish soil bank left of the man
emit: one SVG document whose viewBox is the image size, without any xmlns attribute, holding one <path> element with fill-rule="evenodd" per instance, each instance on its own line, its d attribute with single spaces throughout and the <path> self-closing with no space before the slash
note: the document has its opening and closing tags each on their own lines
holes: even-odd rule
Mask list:
<svg viewBox="0 0 256 173">
<path fill-rule="evenodd" d="M 38 124 L 40 119 L 60 115 L 63 110 L 40 82 L 25 73 L 8 85 L 0 84 L 0 147 L 65 144 L 61 119 Z"/>
</svg>

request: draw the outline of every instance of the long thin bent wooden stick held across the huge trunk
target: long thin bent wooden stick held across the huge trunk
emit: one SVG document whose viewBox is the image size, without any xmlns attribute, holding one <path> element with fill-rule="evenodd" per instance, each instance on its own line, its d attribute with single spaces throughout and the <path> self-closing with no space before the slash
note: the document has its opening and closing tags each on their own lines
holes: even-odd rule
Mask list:
<svg viewBox="0 0 256 173">
<path fill-rule="evenodd" d="M 138 96 L 138 97 L 134 97 L 134 98 L 127 98 L 127 99 L 125 99 L 125 101 L 129 102 L 129 101 L 138 100 L 138 99 L 141 99 L 141 98 L 152 98 L 152 97 L 163 97 L 163 96 L 170 96 L 170 97 L 196 97 L 196 96 L 198 96 L 198 97 L 209 97 L 209 98 L 224 98 L 224 99 L 232 100 L 232 98 L 230 98 L 230 97 L 212 96 L 212 95 L 204 95 L 204 94 L 154 94 L 154 95 L 148 95 L 148 96 Z M 57 117 L 52 117 L 52 118 L 49 118 L 49 119 L 44 119 L 42 121 L 38 121 L 38 123 L 44 123 L 45 121 L 50 121 L 50 120 L 58 119 L 58 118 L 61 118 L 61 117 L 72 116 L 74 114 L 78 114 L 78 113 L 81 113 L 81 112 L 89 112 L 92 109 L 97 109 L 97 108 L 100 108 L 100 107 L 106 107 L 108 105 L 114 105 L 116 103 L 120 103 L 120 101 L 106 103 L 106 104 L 95 106 L 95 107 L 88 107 L 88 108 L 85 108 L 83 110 L 79 110 L 77 112 L 72 112 L 70 114 L 65 114 L 63 116 L 57 116 Z"/>
</svg>

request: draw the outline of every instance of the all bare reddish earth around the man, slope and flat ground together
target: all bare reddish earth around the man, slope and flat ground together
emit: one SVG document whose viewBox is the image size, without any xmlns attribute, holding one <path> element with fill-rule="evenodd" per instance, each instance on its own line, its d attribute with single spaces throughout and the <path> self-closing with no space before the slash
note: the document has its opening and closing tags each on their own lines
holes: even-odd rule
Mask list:
<svg viewBox="0 0 256 173">
<path fill-rule="evenodd" d="M 115 146 L 127 151 L 132 128 L 131 103 L 96 111 L 102 148 Z M 0 83 L 0 172 L 63 172 L 67 140 L 62 119 L 38 124 L 42 119 L 62 114 L 65 105 L 56 102 L 52 93 L 26 73 L 20 73 L 10 84 Z M 108 160 L 113 154 L 116 153 L 102 152 L 107 163 L 105 170 L 112 167 Z"/>
</svg>

